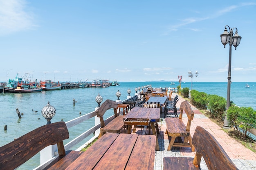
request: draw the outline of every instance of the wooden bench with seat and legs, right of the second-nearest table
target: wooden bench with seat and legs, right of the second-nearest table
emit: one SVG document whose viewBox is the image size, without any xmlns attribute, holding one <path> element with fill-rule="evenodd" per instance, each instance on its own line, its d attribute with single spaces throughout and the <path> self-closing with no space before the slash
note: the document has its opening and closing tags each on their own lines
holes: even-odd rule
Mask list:
<svg viewBox="0 0 256 170">
<path fill-rule="evenodd" d="M 187 122 L 186 126 L 185 126 L 184 122 L 182 121 L 183 111 L 186 112 L 186 115 L 188 117 L 188 122 Z M 167 150 L 171 150 L 171 148 L 173 146 L 191 147 L 192 151 L 195 150 L 194 146 L 192 145 L 192 138 L 190 135 L 191 120 L 193 120 L 193 118 L 194 118 L 194 112 L 187 100 L 183 101 L 180 105 L 180 117 L 179 118 L 165 118 L 166 133 L 168 134 L 168 136 L 171 136 L 171 142 L 170 142 Z M 182 141 L 181 137 L 184 137 L 183 141 Z M 177 138 L 178 142 L 175 142 L 176 138 Z"/>
</svg>

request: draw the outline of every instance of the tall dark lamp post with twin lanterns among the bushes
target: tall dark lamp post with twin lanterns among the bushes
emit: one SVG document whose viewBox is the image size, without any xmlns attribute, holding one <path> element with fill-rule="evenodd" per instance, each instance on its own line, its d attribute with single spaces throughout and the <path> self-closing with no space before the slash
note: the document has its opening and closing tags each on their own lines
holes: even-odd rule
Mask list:
<svg viewBox="0 0 256 170">
<path fill-rule="evenodd" d="M 227 32 L 227 27 L 229 28 L 229 32 Z M 236 29 L 235 34 L 233 35 L 233 30 Z M 242 37 L 238 35 L 237 28 L 230 28 L 229 26 L 225 26 L 224 33 L 220 35 L 220 40 L 221 43 L 224 45 L 224 48 L 226 44 L 229 43 L 229 70 L 228 70 L 228 76 L 227 76 L 227 106 L 226 106 L 226 111 L 229 109 L 230 106 L 230 84 L 231 84 L 231 48 L 232 44 L 236 47 L 240 44 L 240 40 Z M 224 119 L 224 127 L 229 127 L 229 122 L 227 121 L 227 115 L 225 115 Z"/>
</svg>

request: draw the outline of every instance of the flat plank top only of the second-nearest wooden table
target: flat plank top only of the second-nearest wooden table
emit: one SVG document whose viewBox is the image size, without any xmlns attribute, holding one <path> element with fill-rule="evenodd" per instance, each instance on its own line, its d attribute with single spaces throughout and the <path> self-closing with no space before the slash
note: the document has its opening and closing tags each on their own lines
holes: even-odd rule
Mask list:
<svg viewBox="0 0 256 170">
<path fill-rule="evenodd" d="M 134 107 L 124 116 L 124 120 L 155 120 L 160 121 L 159 108 Z"/>
</svg>

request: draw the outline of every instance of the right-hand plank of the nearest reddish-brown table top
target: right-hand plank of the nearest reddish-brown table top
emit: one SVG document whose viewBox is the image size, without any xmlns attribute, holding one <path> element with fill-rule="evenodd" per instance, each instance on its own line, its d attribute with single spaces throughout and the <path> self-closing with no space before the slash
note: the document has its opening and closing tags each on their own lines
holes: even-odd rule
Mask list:
<svg viewBox="0 0 256 170">
<path fill-rule="evenodd" d="M 155 145 L 155 135 L 139 135 L 125 169 L 153 170 L 155 162 Z"/>
</svg>

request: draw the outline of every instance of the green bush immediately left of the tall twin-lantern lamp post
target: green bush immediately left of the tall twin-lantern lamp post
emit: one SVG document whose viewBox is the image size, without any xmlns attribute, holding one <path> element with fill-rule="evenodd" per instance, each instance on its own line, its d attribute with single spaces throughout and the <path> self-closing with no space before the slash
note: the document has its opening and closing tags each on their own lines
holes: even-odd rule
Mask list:
<svg viewBox="0 0 256 170">
<path fill-rule="evenodd" d="M 208 95 L 209 103 L 207 109 L 211 117 L 217 120 L 223 120 L 226 110 L 226 99 L 217 95 Z"/>
</svg>

